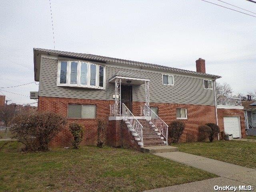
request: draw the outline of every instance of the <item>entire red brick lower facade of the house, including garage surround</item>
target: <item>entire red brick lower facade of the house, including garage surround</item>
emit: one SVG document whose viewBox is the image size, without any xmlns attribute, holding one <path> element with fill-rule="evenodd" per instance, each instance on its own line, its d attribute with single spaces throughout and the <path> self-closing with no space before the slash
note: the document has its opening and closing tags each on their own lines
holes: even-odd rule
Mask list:
<svg viewBox="0 0 256 192">
<path fill-rule="evenodd" d="M 97 118 L 108 121 L 110 116 L 110 104 L 114 101 L 108 100 L 86 100 L 86 99 L 70 99 L 70 98 L 52 98 L 39 97 L 38 110 L 53 111 L 65 117 L 68 116 L 68 104 L 95 104 L 96 118 L 68 118 L 68 123 L 64 130 L 62 130 L 56 138 L 51 142 L 52 147 L 66 147 L 71 146 L 72 135 L 68 130 L 71 122 L 77 122 L 84 125 L 84 139 L 82 145 L 96 145 L 97 144 Z M 141 106 L 144 102 L 132 102 L 132 113 L 134 116 L 140 116 Z M 198 140 L 198 126 L 208 122 L 216 123 L 215 106 L 206 105 L 191 105 L 191 104 L 168 104 L 168 103 L 150 103 L 152 107 L 158 107 L 158 116 L 169 124 L 176 120 L 176 109 L 186 108 L 188 119 L 181 120 L 186 124 L 186 128 L 180 142 L 192 142 Z M 224 131 L 224 116 L 240 116 L 240 124 L 242 130 L 242 137 L 245 136 L 244 127 L 244 113 L 243 110 L 235 109 L 218 109 L 218 124 L 220 130 Z M 115 147 L 128 147 L 138 149 L 138 144 L 133 140 L 133 136 L 127 129 L 126 124 L 122 120 L 108 121 L 106 130 L 106 144 Z"/>
</svg>

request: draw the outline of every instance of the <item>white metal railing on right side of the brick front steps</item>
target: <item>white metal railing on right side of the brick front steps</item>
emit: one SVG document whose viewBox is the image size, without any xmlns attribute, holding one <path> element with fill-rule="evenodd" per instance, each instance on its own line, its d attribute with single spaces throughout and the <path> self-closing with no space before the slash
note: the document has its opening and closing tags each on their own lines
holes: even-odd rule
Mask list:
<svg viewBox="0 0 256 192">
<path fill-rule="evenodd" d="M 141 116 L 147 116 L 149 111 L 149 117 L 152 124 L 158 129 L 162 136 L 166 139 L 166 145 L 168 145 L 168 125 L 146 104 L 141 106 L 140 114 Z"/>
</svg>

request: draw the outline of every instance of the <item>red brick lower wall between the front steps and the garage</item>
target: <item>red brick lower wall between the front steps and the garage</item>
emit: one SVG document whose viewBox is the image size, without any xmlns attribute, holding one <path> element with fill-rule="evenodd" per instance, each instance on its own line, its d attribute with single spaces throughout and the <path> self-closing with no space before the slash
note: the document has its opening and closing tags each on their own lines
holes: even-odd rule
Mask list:
<svg viewBox="0 0 256 192">
<path fill-rule="evenodd" d="M 132 112 L 134 116 L 140 115 L 140 106 L 144 102 L 132 102 Z M 186 108 L 188 113 L 187 120 L 181 120 L 186 124 L 180 142 L 196 141 L 198 139 L 198 126 L 209 122 L 216 123 L 215 106 L 190 105 L 190 104 L 169 104 L 169 103 L 150 103 L 151 107 L 158 107 L 158 116 L 169 124 L 176 120 L 176 109 Z"/>
</svg>

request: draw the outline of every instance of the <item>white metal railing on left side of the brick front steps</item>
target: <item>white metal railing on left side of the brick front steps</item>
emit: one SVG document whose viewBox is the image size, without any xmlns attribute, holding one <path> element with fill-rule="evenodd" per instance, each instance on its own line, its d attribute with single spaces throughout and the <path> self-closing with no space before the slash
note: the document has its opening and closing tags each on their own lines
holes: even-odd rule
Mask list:
<svg viewBox="0 0 256 192">
<path fill-rule="evenodd" d="M 122 116 L 128 123 L 132 126 L 134 131 L 138 134 L 138 137 L 141 140 L 141 146 L 143 147 L 143 131 L 142 131 L 142 124 L 134 117 L 132 112 L 126 107 L 124 103 L 122 103 Z"/>
</svg>

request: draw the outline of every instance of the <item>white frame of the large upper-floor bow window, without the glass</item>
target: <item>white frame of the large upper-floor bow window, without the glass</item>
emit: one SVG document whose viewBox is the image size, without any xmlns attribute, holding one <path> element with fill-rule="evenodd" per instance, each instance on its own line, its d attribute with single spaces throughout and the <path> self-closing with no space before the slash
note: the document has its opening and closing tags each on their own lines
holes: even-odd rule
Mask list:
<svg viewBox="0 0 256 192">
<path fill-rule="evenodd" d="M 68 62 L 68 64 L 67 64 L 67 80 L 66 80 L 67 83 L 66 84 L 60 84 L 60 64 L 63 61 Z M 77 77 L 76 77 L 77 84 L 70 84 L 71 62 L 78 62 Z M 81 63 L 87 63 L 87 85 L 81 84 Z M 91 74 L 90 66 L 91 66 L 91 64 L 96 65 L 96 86 L 90 85 L 90 74 Z M 104 68 L 103 87 L 99 86 L 99 78 L 100 78 L 99 67 L 100 66 L 102 66 Z M 106 88 L 106 66 L 91 63 L 91 62 L 86 62 L 86 61 L 80 61 L 80 60 L 58 60 L 57 86 L 82 87 L 82 88 L 94 88 L 94 89 L 105 90 L 105 88 Z"/>
</svg>

